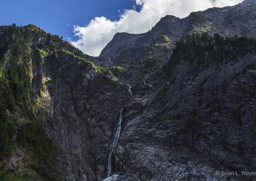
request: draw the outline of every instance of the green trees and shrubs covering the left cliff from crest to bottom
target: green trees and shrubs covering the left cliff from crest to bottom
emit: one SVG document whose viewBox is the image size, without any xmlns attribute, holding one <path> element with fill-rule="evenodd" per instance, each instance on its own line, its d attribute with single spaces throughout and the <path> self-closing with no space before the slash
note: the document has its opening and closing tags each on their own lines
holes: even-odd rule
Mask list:
<svg viewBox="0 0 256 181">
<path fill-rule="evenodd" d="M 57 48 L 67 48 L 71 45 L 67 46 L 64 41 L 46 34 L 34 25 L 2 26 L 0 32 L 0 161 L 3 161 L 0 165 L 0 180 L 32 180 L 26 175 L 15 175 L 5 166 L 6 160 L 12 156 L 17 145 L 26 150 L 26 156 L 29 157 L 26 166 L 33 173 L 39 173 L 45 180 L 56 180 L 57 177 L 51 170 L 54 144 L 40 124 L 40 113 L 35 115 L 38 106 L 31 90 L 32 58 L 35 60 L 33 64 L 39 65 L 42 58 L 54 54 L 56 47 L 48 46 L 48 41 L 57 41 Z M 41 38 L 43 43 L 33 43 L 32 49 L 29 50 L 28 43 L 38 38 Z M 56 40 L 52 40 L 54 38 Z M 48 78 L 42 80 L 40 91 L 43 97 L 48 93 L 45 85 L 47 81 Z M 17 140 L 14 139 L 15 133 L 18 133 Z"/>
</svg>

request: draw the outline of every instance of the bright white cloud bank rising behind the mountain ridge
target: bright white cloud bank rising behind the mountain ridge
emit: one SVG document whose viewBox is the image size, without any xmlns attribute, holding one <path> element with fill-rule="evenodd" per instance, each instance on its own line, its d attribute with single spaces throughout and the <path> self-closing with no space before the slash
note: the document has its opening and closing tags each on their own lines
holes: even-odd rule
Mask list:
<svg viewBox="0 0 256 181">
<path fill-rule="evenodd" d="M 165 15 L 184 18 L 192 11 L 206 10 L 211 7 L 233 6 L 241 0 L 135 0 L 141 11 L 125 10 L 120 19 L 108 20 L 95 17 L 85 27 L 74 26 L 77 41 L 72 45 L 85 54 L 97 56 L 118 32 L 145 33 Z"/>
</svg>

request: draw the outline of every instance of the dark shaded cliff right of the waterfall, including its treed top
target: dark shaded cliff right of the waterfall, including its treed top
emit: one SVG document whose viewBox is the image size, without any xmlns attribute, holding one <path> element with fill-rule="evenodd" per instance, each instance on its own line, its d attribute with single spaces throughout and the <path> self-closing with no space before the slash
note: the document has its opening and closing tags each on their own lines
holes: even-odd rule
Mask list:
<svg viewBox="0 0 256 181">
<path fill-rule="evenodd" d="M 216 173 L 254 170 L 255 45 L 243 38 L 181 43 L 164 69 L 168 78 L 124 109 L 116 173 L 124 180 L 228 180 Z"/>
</svg>

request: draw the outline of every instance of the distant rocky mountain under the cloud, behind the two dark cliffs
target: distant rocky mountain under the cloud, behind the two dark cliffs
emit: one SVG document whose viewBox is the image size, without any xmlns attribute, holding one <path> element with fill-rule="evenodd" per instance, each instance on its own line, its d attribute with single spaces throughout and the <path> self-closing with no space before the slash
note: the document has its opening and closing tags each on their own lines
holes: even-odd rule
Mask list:
<svg viewBox="0 0 256 181">
<path fill-rule="evenodd" d="M 177 18 L 167 15 L 147 33 L 128 34 L 117 33 L 113 40 L 102 50 L 100 57 L 105 57 L 105 63 L 100 66 L 109 66 L 108 58 L 114 66 L 129 68 L 136 81 L 143 77 L 137 74 L 138 69 L 153 57 L 155 63 L 161 66 L 168 61 L 168 57 L 175 48 L 175 42 L 188 34 L 208 32 L 221 36 L 255 36 L 255 1 L 243 1 L 232 7 L 210 8 L 206 11 L 191 13 L 186 18 Z M 142 63 L 141 63 L 142 61 Z M 135 71 L 132 71 L 136 69 Z M 141 69 L 145 71 L 145 68 Z M 140 71 L 140 72 L 141 72 Z M 150 73 L 150 70 L 148 71 Z"/>
</svg>

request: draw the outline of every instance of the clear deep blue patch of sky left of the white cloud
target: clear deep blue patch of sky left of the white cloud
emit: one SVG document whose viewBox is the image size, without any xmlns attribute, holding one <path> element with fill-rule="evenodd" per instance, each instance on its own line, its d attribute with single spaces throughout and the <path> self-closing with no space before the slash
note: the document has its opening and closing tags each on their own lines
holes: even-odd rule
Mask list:
<svg viewBox="0 0 256 181">
<path fill-rule="evenodd" d="M 73 26 L 86 25 L 94 17 L 118 20 L 135 0 L 1 0 L 0 25 L 34 24 L 47 33 L 71 38 Z M 67 25 L 68 24 L 68 25 Z"/>
</svg>

